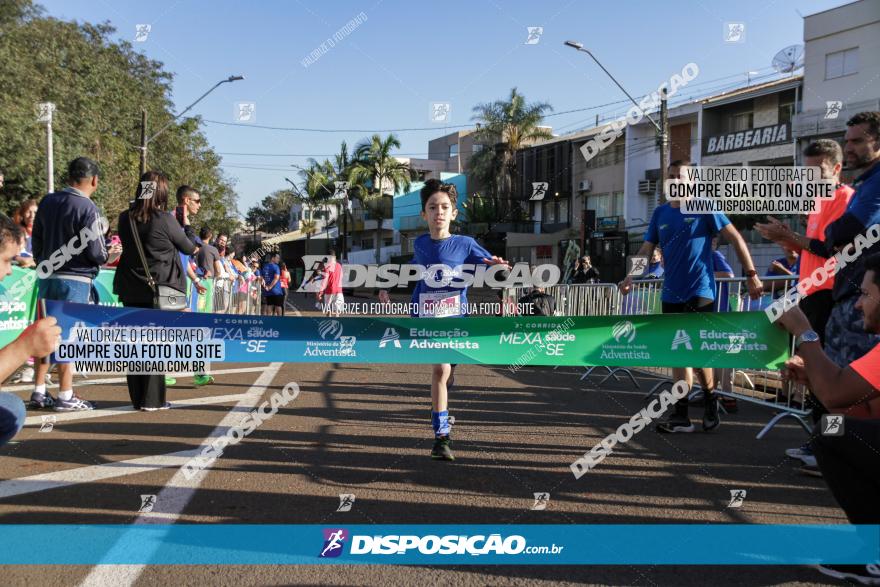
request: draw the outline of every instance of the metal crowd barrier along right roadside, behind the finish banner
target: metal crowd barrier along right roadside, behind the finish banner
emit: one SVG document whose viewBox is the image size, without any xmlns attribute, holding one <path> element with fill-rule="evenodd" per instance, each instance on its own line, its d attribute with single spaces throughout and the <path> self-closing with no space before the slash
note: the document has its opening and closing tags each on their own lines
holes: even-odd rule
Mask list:
<svg viewBox="0 0 880 587">
<path fill-rule="evenodd" d="M 760 311 L 773 300 L 781 296 L 789 287 L 796 283 L 796 276 L 764 277 L 765 294 L 752 300 L 749 297 L 745 278 L 716 278 L 715 310 L 718 312 Z M 613 316 L 613 315 L 644 315 L 662 311 L 661 294 L 662 279 L 634 281 L 628 295 L 620 293 L 616 284 L 598 283 L 584 285 L 556 285 L 545 288 L 545 293 L 556 300 L 556 314 L 559 316 Z M 505 297 L 520 297 L 531 288 L 509 288 Z M 792 340 L 790 352 L 794 354 Z M 585 372 L 581 380 L 590 377 L 596 369 L 606 369 L 608 373 L 599 382 L 602 385 L 609 379 L 620 381 L 618 375 L 628 376 L 636 388 L 638 381 L 629 369 L 622 367 L 584 366 Z M 656 384 L 645 396 L 647 401 L 660 392 L 663 387 L 671 386 L 672 369 L 668 367 L 640 367 L 636 371 L 659 375 L 665 380 Z M 723 397 L 742 400 L 755 405 L 777 411 L 778 413 L 758 433 L 763 438 L 779 421 L 794 418 L 807 431 L 812 430 L 810 421 L 811 410 L 807 407 L 808 392 L 805 386 L 782 381 L 778 371 L 753 369 L 716 369 L 715 381 L 721 389 L 716 393 Z M 699 394 L 702 389 L 698 381 L 694 381 L 691 397 Z"/>
</svg>

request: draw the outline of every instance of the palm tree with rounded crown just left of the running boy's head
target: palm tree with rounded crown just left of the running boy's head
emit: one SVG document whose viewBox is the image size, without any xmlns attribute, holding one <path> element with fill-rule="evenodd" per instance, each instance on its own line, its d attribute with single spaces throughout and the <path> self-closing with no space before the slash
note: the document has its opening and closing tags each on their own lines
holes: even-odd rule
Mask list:
<svg viewBox="0 0 880 587">
<path fill-rule="evenodd" d="M 400 141 L 393 134 L 385 139 L 375 134 L 355 147 L 354 160 L 348 178 L 370 216 L 376 219 L 376 263 L 382 247 L 382 223 L 388 216 L 388 194 L 409 191 L 412 170 L 409 165 L 391 155 L 392 149 L 400 148 Z"/>
</svg>

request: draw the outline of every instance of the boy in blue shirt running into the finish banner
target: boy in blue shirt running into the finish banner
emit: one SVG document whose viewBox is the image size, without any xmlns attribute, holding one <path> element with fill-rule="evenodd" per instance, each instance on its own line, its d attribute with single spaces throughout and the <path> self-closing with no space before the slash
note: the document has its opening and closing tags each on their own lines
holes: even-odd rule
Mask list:
<svg viewBox="0 0 880 587">
<path fill-rule="evenodd" d="M 456 207 L 458 192 L 452 184 L 444 184 L 430 179 L 421 191 L 422 218 L 428 223 L 429 234 L 424 234 L 414 243 L 412 262 L 426 268 L 432 265 L 445 265 L 460 274 L 455 268 L 460 265 L 508 265 L 501 257 L 495 257 L 469 237 L 453 235 L 449 232 L 450 223 L 458 216 Z M 440 270 L 423 276 L 413 290 L 413 317 L 448 318 L 467 315 L 467 286 L 455 276 L 440 275 Z M 430 278 L 430 279 L 428 279 Z M 428 283 L 428 282 L 431 283 Z M 387 303 L 388 292 L 379 291 L 380 301 Z M 454 461 L 450 440 L 449 411 L 447 397 L 452 386 L 454 365 L 448 363 L 434 365 L 431 372 L 431 424 L 434 428 L 434 448 L 431 458 L 441 461 Z"/>
</svg>

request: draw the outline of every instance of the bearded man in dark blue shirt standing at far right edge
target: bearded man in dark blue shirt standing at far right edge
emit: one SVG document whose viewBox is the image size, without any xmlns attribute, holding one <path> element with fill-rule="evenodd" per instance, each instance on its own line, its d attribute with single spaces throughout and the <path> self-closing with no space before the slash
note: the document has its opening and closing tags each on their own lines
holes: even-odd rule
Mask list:
<svg viewBox="0 0 880 587">
<path fill-rule="evenodd" d="M 838 365 L 849 365 L 880 343 L 880 335 L 865 332 L 861 312 L 855 307 L 865 276 L 865 258 L 880 252 L 880 242 L 857 256 L 854 247 L 849 247 L 858 235 L 880 224 L 880 112 L 859 112 L 846 125 L 846 166 L 860 169 L 862 174 L 853 183 L 856 191 L 846 212 L 825 229 L 824 243 L 810 241 L 810 250 L 816 254 L 823 245 L 843 249 L 846 261 L 834 277 L 834 307 L 825 326 L 825 352 Z"/>
</svg>

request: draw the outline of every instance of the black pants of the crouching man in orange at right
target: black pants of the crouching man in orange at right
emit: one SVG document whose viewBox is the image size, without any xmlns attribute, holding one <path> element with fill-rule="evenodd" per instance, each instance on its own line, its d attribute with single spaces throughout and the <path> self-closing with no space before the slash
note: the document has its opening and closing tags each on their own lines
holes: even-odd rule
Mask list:
<svg viewBox="0 0 880 587">
<path fill-rule="evenodd" d="M 817 436 L 813 452 L 853 524 L 880 524 L 880 420 L 845 418 L 843 436 Z"/>
</svg>

